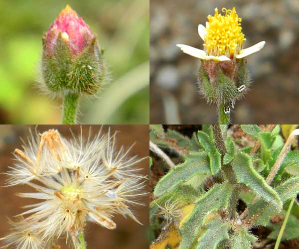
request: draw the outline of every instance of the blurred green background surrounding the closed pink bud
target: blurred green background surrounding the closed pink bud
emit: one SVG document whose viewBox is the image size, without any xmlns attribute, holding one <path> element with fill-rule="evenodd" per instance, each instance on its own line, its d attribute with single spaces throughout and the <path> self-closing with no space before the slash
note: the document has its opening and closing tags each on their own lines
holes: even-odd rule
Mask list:
<svg viewBox="0 0 299 249">
<path fill-rule="evenodd" d="M 0 0 L 0 124 L 60 124 L 37 87 L 41 37 L 70 4 L 98 35 L 112 82 L 81 99 L 83 124 L 149 124 L 148 0 Z"/>
</svg>

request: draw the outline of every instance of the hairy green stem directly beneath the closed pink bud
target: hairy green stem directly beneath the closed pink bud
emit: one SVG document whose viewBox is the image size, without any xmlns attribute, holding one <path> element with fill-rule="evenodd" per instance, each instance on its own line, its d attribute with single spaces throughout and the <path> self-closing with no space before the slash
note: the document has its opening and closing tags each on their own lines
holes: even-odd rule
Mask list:
<svg viewBox="0 0 299 249">
<path fill-rule="evenodd" d="M 68 93 L 64 96 L 62 124 L 75 124 L 78 110 L 79 95 Z"/>
</svg>

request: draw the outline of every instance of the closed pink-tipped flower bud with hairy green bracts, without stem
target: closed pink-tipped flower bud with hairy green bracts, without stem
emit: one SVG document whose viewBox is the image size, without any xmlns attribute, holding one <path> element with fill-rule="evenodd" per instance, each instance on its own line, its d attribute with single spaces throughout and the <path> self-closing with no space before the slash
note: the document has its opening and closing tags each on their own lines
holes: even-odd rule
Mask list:
<svg viewBox="0 0 299 249">
<path fill-rule="evenodd" d="M 106 74 L 103 51 L 90 27 L 69 5 L 43 35 L 42 76 L 51 93 L 94 95 Z"/>
</svg>

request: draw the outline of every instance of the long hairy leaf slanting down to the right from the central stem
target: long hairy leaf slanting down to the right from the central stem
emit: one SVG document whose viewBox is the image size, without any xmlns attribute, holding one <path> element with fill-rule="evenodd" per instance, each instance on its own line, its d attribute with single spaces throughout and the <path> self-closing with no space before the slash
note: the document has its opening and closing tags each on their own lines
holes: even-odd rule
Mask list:
<svg viewBox="0 0 299 249">
<path fill-rule="evenodd" d="M 259 197 L 282 209 L 283 204 L 278 194 L 266 183 L 265 179 L 254 170 L 249 155 L 239 152 L 233 160 L 232 166 L 239 183 L 245 184 Z"/>
</svg>

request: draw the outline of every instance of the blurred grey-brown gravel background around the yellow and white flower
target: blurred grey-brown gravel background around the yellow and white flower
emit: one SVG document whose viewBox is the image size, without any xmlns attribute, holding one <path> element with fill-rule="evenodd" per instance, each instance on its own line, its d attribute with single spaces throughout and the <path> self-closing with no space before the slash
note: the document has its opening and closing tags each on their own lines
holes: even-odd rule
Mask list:
<svg viewBox="0 0 299 249">
<path fill-rule="evenodd" d="M 236 103 L 233 124 L 299 123 L 299 0 L 150 0 L 150 123 L 212 124 L 216 106 L 198 93 L 200 60 L 175 46 L 202 49 L 199 23 L 214 8 L 236 7 L 244 47 L 265 40 L 247 57 L 253 84 Z"/>
</svg>

